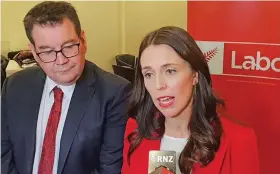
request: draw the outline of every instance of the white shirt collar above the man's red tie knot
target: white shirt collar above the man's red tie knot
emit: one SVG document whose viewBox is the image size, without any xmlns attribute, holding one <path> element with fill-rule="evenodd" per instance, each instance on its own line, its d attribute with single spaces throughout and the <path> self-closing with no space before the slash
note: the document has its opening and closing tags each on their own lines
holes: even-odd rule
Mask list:
<svg viewBox="0 0 280 174">
<path fill-rule="evenodd" d="M 60 88 L 63 91 L 63 95 L 68 99 L 71 99 L 72 93 L 76 86 L 76 84 L 72 84 L 69 86 L 58 85 L 52 79 L 50 79 L 48 76 L 46 78 L 46 83 L 47 83 L 47 94 L 49 94 L 49 96 L 51 95 L 53 88 L 57 86 L 58 88 Z"/>
</svg>

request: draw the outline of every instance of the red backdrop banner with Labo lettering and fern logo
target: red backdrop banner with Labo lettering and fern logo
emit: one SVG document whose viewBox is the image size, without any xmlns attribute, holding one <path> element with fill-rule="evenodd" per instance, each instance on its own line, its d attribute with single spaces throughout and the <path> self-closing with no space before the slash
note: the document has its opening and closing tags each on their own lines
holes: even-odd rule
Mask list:
<svg viewBox="0 0 280 174">
<path fill-rule="evenodd" d="M 227 113 L 255 129 L 261 173 L 279 174 L 280 2 L 188 1 L 187 28 L 208 41 L 203 51 L 213 53 L 213 87 Z"/>
</svg>

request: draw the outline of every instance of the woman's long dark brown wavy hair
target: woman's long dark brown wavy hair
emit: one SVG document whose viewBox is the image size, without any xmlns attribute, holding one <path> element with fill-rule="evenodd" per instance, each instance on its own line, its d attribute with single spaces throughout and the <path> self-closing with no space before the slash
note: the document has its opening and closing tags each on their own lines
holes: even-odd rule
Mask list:
<svg viewBox="0 0 280 174">
<path fill-rule="evenodd" d="M 169 26 L 155 30 L 149 33 L 140 45 L 128 110 L 128 114 L 136 120 L 138 128 L 128 136 L 130 142 L 128 160 L 143 138 L 161 139 L 165 131 L 165 117 L 156 109 L 151 96 L 145 89 L 140 64 L 143 51 L 150 45 L 160 44 L 171 46 L 198 73 L 193 109 L 188 125 L 190 137 L 179 158 L 181 172 L 188 174 L 194 163 L 205 166 L 214 159 L 222 136 L 222 125 L 217 114 L 217 107 L 223 106 L 224 103 L 216 98 L 212 91 L 210 72 L 203 53 L 194 39 L 178 27 Z"/>
</svg>

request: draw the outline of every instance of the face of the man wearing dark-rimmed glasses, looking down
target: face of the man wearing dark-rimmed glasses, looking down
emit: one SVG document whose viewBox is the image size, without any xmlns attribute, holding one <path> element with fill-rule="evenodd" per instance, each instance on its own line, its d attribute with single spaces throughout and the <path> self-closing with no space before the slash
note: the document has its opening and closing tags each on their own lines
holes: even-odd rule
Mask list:
<svg viewBox="0 0 280 174">
<path fill-rule="evenodd" d="M 61 24 L 34 25 L 32 37 L 30 49 L 47 76 L 60 85 L 74 84 L 85 65 L 84 32 L 78 36 L 73 23 L 65 18 Z"/>
</svg>

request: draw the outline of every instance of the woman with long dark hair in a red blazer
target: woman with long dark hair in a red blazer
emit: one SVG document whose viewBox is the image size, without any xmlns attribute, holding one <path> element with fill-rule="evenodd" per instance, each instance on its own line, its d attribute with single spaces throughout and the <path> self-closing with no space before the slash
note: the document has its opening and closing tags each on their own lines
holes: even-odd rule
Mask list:
<svg viewBox="0 0 280 174">
<path fill-rule="evenodd" d="M 161 150 L 176 152 L 177 174 L 259 174 L 254 131 L 218 116 L 223 105 L 205 56 L 185 30 L 149 33 L 139 50 L 122 173 L 147 174 L 149 151 Z"/>
</svg>

